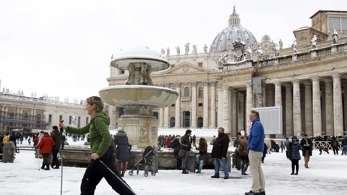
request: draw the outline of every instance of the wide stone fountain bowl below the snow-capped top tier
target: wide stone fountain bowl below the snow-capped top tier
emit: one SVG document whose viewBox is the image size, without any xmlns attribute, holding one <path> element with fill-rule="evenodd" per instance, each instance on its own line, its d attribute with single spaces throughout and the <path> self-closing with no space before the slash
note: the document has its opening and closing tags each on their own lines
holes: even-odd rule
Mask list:
<svg viewBox="0 0 347 195">
<path fill-rule="evenodd" d="M 113 106 L 149 105 L 164 108 L 175 103 L 179 94 L 176 90 L 145 85 L 117 85 L 99 89 L 100 98 Z"/>
</svg>

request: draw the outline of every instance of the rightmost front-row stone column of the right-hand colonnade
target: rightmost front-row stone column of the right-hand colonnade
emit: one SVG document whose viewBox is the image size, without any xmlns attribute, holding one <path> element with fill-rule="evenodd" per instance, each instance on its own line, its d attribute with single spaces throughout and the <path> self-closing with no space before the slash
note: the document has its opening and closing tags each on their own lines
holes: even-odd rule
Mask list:
<svg viewBox="0 0 347 195">
<path fill-rule="evenodd" d="M 341 75 L 333 74 L 334 96 L 334 136 L 344 135 L 344 116 L 342 111 Z"/>
</svg>

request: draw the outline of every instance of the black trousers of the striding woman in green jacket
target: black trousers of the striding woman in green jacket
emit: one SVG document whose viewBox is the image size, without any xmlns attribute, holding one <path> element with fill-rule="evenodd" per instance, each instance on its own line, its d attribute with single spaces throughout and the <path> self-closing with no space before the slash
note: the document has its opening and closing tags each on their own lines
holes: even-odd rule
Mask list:
<svg viewBox="0 0 347 195">
<path fill-rule="evenodd" d="M 100 157 L 100 160 L 107 165 L 121 180 L 123 180 L 118 173 L 115 166 L 115 156 L 111 151 L 111 147 L 107 149 L 105 154 Z M 96 185 L 99 184 L 102 178 L 105 178 L 107 183 L 121 195 L 133 195 L 134 193 L 130 191 L 124 184 L 119 181 L 106 167 L 104 167 L 98 160 L 91 160 L 81 183 L 81 195 L 94 194 Z M 124 181 L 124 180 L 123 180 Z M 124 183 L 126 183 L 124 181 Z"/>
</svg>

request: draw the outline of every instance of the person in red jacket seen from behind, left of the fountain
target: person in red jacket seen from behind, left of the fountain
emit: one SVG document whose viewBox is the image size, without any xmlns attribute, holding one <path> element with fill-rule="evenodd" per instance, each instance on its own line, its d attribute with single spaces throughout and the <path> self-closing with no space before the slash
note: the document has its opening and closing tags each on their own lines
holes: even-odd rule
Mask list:
<svg viewBox="0 0 347 195">
<path fill-rule="evenodd" d="M 56 145 L 54 140 L 49 136 L 48 132 L 44 132 L 40 143 L 36 145 L 36 148 L 41 147 L 40 154 L 42 154 L 43 163 L 44 163 L 41 169 L 49 170 L 48 155 L 52 153 L 53 145 Z M 45 166 L 46 168 L 44 168 Z"/>
</svg>

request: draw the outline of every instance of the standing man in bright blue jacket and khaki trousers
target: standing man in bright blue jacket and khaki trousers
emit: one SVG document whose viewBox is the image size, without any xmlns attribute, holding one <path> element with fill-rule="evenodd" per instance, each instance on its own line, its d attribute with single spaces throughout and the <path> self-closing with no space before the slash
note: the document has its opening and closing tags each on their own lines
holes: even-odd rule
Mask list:
<svg viewBox="0 0 347 195">
<path fill-rule="evenodd" d="M 261 168 L 261 158 L 264 151 L 264 127 L 260 122 L 259 113 L 255 110 L 251 110 L 249 113 L 249 120 L 252 122 L 252 127 L 249 130 L 247 152 L 252 174 L 252 189 L 245 195 L 265 195 L 265 179 Z"/>
</svg>

